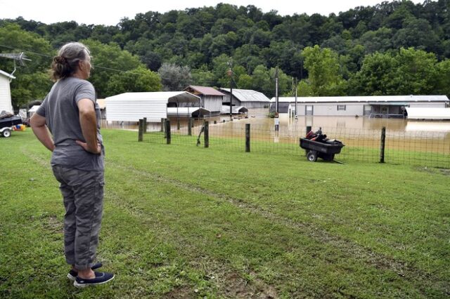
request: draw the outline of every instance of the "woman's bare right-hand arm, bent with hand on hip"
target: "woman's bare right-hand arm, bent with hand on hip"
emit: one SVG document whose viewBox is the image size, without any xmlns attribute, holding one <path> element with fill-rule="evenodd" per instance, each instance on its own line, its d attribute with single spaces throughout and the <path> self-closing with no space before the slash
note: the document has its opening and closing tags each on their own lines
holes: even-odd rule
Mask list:
<svg viewBox="0 0 450 299">
<path fill-rule="evenodd" d="M 101 145 L 97 140 L 97 119 L 94 102 L 89 99 L 82 99 L 77 102 L 79 110 L 79 124 L 82 127 L 82 134 L 85 142 L 77 140 L 84 150 L 93 154 L 101 153 Z"/>
</svg>

